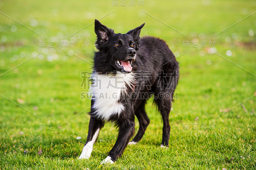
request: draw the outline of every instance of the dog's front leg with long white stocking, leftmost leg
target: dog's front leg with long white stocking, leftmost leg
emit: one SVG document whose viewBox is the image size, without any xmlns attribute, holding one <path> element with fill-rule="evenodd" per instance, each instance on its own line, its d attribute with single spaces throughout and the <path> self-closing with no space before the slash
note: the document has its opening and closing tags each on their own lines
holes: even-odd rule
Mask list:
<svg viewBox="0 0 256 170">
<path fill-rule="evenodd" d="M 89 130 L 83 151 L 78 159 L 89 159 L 92 153 L 93 144 L 97 141 L 100 129 L 104 126 L 104 122 L 91 117 L 89 122 Z"/>
</svg>

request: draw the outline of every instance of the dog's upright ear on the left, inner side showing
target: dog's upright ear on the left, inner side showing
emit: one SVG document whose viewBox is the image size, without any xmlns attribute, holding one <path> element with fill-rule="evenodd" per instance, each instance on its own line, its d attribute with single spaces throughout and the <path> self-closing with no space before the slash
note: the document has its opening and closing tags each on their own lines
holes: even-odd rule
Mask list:
<svg viewBox="0 0 256 170">
<path fill-rule="evenodd" d="M 109 29 L 107 26 L 104 26 L 97 19 L 94 21 L 95 27 L 94 31 L 97 35 L 96 47 L 99 48 L 102 44 L 108 41 L 108 38 L 114 35 L 114 30 Z"/>
</svg>

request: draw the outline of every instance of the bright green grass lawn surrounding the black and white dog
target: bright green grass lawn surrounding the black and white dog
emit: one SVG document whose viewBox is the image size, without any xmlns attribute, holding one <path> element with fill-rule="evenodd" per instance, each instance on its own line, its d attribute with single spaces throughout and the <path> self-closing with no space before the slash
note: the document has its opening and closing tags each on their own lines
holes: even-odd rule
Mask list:
<svg viewBox="0 0 256 170">
<path fill-rule="evenodd" d="M 0 13 L 0 169 L 256 169 L 256 97 L 247 100 L 256 91 L 252 75 L 256 74 L 256 35 L 249 35 L 249 30 L 256 34 L 256 14 L 214 36 L 256 11 L 255 1 L 145 0 L 141 7 L 137 0 L 135 7 L 129 7 L 129 1 L 126 7 L 120 1 L 119 6 L 111 3 L 0 1 L 1 12 L 42 35 Z M 100 131 L 92 157 L 77 159 L 88 132 L 89 116 L 87 110 L 82 111 L 90 107 L 90 100 L 80 99 L 80 93 L 87 91 L 80 85 L 81 72 L 91 70 L 89 63 L 96 50 L 93 24 L 70 35 L 111 11 L 100 21 L 116 33 L 146 22 L 141 36 L 164 39 L 176 56 L 186 53 L 177 58 L 178 99 L 172 105 L 177 114 L 170 114 L 169 148 L 159 147 L 163 125 L 149 100 L 150 124 L 142 140 L 127 146 L 114 165 L 101 166 L 117 137 L 111 123 Z M 39 41 L 62 40 L 74 43 L 63 49 L 56 48 L 56 43 L 48 50 L 39 48 Z M 190 47 L 182 47 L 183 41 L 190 41 Z M 207 41 L 207 47 L 191 48 L 191 41 L 198 41 L 198 46 Z M 219 55 L 252 74 L 210 54 L 209 41 L 216 42 Z M 227 50 L 232 56 L 226 55 Z M 135 128 L 139 128 L 137 119 Z"/>
</svg>

